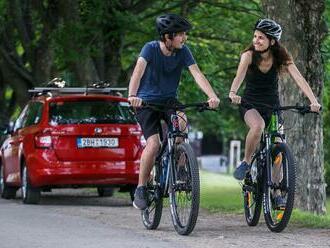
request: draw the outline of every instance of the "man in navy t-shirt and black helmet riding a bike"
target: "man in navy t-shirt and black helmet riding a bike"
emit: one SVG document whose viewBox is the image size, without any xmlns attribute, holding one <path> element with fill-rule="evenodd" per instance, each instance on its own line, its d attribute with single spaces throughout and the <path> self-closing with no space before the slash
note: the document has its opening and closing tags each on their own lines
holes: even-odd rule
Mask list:
<svg viewBox="0 0 330 248">
<path fill-rule="evenodd" d="M 156 19 L 159 41 L 151 41 L 142 48 L 135 65 L 130 83 L 128 101 L 137 107 L 136 117 L 147 140 L 141 155 L 138 187 L 134 194 L 133 206 L 147 208 L 146 183 L 160 148 L 160 121 L 167 124 L 171 113 L 164 113 L 141 107 L 142 101 L 166 104 L 176 101 L 177 89 L 182 70 L 188 68 L 196 83 L 208 96 L 210 108 L 219 105 L 219 98 L 196 64 L 189 48 L 184 44 L 187 31 L 192 28 L 185 18 L 165 14 Z M 186 118 L 182 114 L 183 118 Z"/>
</svg>

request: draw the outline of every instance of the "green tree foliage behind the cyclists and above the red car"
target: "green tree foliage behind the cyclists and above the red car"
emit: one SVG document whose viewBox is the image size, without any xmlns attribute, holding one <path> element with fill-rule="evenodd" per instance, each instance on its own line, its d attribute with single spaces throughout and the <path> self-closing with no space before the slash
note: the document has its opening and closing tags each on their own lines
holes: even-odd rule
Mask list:
<svg viewBox="0 0 330 248">
<path fill-rule="evenodd" d="M 22 27 L 15 26 L 8 14 L 10 11 L 6 11 L 7 5 L 14 6 L 16 10 L 25 10 L 28 6 L 31 12 L 27 12 L 26 16 L 31 17 L 31 27 L 28 23 Z M 110 76 L 117 74 L 117 82 L 127 86 L 140 49 L 145 42 L 158 39 L 156 16 L 165 12 L 187 16 L 194 26 L 187 44 L 222 99 L 218 113 L 191 113 L 189 119 L 193 126 L 222 139 L 243 138 L 244 129 L 237 121 L 237 108 L 229 106 L 225 99 L 235 76 L 240 51 L 250 43 L 252 26 L 261 16 L 257 1 L 77 0 L 69 4 L 46 0 L 38 5 L 26 0 L 22 3 L 2 0 L 0 8 L 4 12 L 3 27 L 15 27 L 12 40 L 18 57 L 22 59 L 19 66 L 31 74 L 27 87 L 35 82 L 45 82 L 45 77 L 61 76 L 69 81 L 69 85 L 79 86 L 79 82 L 74 81 L 84 79 L 84 76 L 110 80 Z M 31 46 L 24 43 L 20 28 L 31 28 Z M 37 80 L 35 75 L 42 73 L 35 70 L 40 67 L 34 65 L 34 57 L 27 54 L 37 54 L 44 40 L 49 41 L 47 49 L 52 56 L 45 57 L 45 60 L 52 69 L 49 75 Z M 84 61 L 92 61 L 95 70 L 89 68 L 97 72 L 96 76 L 85 72 Z M 111 68 L 117 71 L 111 71 Z M 5 85 L 10 83 L 3 82 Z M 81 85 L 84 83 L 80 81 Z M 182 102 L 207 100 L 187 72 L 182 76 L 179 95 Z"/>
</svg>

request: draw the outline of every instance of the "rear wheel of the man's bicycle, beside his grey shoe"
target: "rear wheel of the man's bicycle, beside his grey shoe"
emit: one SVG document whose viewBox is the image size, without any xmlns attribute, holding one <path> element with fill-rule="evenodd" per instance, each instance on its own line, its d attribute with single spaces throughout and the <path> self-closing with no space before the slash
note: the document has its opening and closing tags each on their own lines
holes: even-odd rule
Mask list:
<svg viewBox="0 0 330 248">
<path fill-rule="evenodd" d="M 148 230 L 154 230 L 159 226 L 163 211 L 163 197 L 159 186 L 160 165 L 157 162 L 152 172 L 152 180 L 147 184 L 148 207 L 141 211 L 143 225 Z"/>
</svg>

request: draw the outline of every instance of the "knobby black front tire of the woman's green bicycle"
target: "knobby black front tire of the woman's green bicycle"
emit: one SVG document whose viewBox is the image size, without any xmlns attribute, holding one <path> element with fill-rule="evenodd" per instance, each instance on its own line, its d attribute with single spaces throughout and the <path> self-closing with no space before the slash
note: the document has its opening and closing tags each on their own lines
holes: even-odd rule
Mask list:
<svg viewBox="0 0 330 248">
<path fill-rule="evenodd" d="M 290 148 L 285 143 L 274 144 L 274 150 L 282 154 L 283 179 L 280 183 L 281 194 L 285 192 L 285 207 L 276 208 L 272 196 L 272 188 L 264 183 L 264 218 L 267 227 L 272 232 L 282 232 L 289 223 L 293 205 L 296 187 L 296 166 Z M 271 159 L 273 164 L 273 159 Z"/>
</svg>

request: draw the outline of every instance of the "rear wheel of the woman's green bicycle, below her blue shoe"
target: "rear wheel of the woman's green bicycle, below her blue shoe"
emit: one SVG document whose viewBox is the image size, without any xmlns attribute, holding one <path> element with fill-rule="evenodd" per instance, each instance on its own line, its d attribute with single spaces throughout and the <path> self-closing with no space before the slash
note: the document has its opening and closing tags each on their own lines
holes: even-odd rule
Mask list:
<svg viewBox="0 0 330 248">
<path fill-rule="evenodd" d="M 251 172 L 244 179 L 242 187 L 244 197 L 244 215 L 249 226 L 256 226 L 260 219 L 262 206 L 262 182 L 257 159 L 252 161 Z"/>
</svg>

